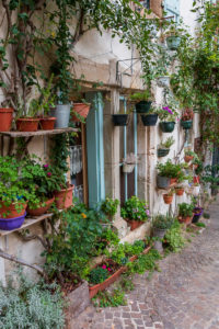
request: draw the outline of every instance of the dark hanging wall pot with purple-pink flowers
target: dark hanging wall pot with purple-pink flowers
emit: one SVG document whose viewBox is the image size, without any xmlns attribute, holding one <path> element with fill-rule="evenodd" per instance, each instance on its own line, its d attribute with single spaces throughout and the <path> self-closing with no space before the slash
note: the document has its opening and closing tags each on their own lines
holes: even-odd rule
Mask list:
<svg viewBox="0 0 219 329">
<path fill-rule="evenodd" d="M 169 106 L 163 106 L 158 113 L 160 118 L 160 128 L 163 133 L 172 133 L 175 127 L 175 120 L 177 117 L 177 112 L 171 110 Z"/>
</svg>

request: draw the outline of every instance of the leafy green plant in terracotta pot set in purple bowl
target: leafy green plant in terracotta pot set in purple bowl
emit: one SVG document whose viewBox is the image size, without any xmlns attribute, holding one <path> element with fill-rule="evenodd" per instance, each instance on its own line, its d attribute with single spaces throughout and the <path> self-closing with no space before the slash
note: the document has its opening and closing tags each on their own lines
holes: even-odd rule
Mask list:
<svg viewBox="0 0 219 329">
<path fill-rule="evenodd" d="M 25 161 L 0 157 L 0 229 L 11 230 L 22 226 L 27 201 L 35 197 L 35 185 L 33 182 L 26 183 L 27 175 Z"/>
</svg>

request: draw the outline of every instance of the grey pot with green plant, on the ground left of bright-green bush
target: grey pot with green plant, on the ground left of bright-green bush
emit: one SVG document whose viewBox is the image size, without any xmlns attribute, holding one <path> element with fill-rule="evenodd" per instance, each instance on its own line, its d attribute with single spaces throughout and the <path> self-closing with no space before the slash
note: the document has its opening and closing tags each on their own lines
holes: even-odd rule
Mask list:
<svg viewBox="0 0 219 329">
<path fill-rule="evenodd" d="M 159 240 L 155 240 L 154 242 L 154 248 L 159 252 L 163 251 L 162 239 L 164 238 L 166 230 L 171 227 L 173 222 L 174 222 L 174 217 L 168 214 L 166 215 L 158 214 L 152 219 L 153 236 L 159 238 Z"/>
</svg>

